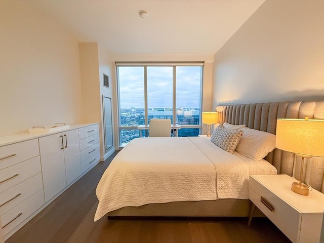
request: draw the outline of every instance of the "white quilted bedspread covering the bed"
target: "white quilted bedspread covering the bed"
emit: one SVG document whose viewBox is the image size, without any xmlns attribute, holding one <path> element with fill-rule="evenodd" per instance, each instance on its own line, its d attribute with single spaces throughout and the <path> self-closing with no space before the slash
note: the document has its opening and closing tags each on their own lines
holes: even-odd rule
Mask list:
<svg viewBox="0 0 324 243">
<path fill-rule="evenodd" d="M 230 154 L 206 137 L 137 138 L 100 179 L 94 220 L 126 206 L 247 199 L 250 174 L 276 174 L 276 169 L 265 160 Z"/>
</svg>

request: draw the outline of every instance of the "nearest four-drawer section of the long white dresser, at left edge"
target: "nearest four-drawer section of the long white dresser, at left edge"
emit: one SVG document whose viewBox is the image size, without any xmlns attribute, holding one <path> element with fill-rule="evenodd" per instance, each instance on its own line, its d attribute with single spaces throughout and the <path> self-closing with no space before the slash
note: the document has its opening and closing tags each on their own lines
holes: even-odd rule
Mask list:
<svg viewBox="0 0 324 243">
<path fill-rule="evenodd" d="M 44 205 L 38 139 L 0 147 L 0 214 L 6 235 Z"/>
</svg>

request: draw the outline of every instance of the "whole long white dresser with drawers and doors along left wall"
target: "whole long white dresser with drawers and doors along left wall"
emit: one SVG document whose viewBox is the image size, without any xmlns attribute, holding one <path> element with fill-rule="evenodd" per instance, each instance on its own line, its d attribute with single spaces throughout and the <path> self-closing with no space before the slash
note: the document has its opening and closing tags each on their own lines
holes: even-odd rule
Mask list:
<svg viewBox="0 0 324 243">
<path fill-rule="evenodd" d="M 100 158 L 99 124 L 0 137 L 0 222 L 5 240 Z"/>
</svg>

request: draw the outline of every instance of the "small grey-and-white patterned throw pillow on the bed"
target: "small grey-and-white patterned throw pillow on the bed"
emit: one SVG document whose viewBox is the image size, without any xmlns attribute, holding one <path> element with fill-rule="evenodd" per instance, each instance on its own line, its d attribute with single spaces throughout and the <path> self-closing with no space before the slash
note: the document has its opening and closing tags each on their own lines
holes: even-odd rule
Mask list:
<svg viewBox="0 0 324 243">
<path fill-rule="evenodd" d="M 211 141 L 226 152 L 233 153 L 242 134 L 243 131 L 230 130 L 223 125 L 219 125 L 214 130 Z"/>
</svg>

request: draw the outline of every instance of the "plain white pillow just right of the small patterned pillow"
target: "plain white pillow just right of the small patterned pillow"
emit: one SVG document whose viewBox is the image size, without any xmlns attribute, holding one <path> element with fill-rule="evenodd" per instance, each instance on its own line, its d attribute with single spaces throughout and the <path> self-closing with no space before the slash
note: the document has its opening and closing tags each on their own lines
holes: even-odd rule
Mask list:
<svg viewBox="0 0 324 243">
<path fill-rule="evenodd" d="M 275 148 L 275 135 L 250 128 L 242 128 L 243 135 L 235 150 L 240 154 L 261 160 Z"/>
</svg>

